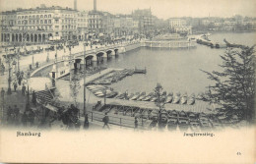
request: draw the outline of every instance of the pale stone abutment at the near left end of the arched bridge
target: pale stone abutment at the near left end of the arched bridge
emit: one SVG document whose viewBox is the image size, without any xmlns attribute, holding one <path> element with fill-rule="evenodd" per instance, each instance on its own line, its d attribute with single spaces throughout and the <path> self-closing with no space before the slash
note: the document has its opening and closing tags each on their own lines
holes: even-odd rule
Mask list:
<svg viewBox="0 0 256 164">
<path fill-rule="evenodd" d="M 57 80 L 70 74 L 69 62 L 64 61 L 64 66 L 56 68 L 56 64 L 53 65 L 52 70 L 49 73 L 51 79 Z"/>
</svg>

